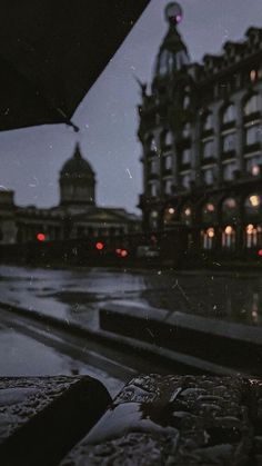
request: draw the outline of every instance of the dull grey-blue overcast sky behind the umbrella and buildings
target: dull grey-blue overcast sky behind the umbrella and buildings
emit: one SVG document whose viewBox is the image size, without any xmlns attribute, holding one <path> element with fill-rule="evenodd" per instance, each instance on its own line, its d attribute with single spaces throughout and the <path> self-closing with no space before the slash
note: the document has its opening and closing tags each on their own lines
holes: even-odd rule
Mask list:
<svg viewBox="0 0 262 466">
<path fill-rule="evenodd" d="M 59 170 L 79 141 L 97 171 L 98 204 L 135 211 L 142 166 L 137 139 L 140 93 L 134 76 L 148 82 L 152 78 L 167 30 L 167 3 L 151 0 L 84 98 L 72 118 L 80 127 L 79 133 L 62 125 L 0 132 L 0 185 L 16 191 L 17 204 L 58 204 Z M 261 0 L 182 0 L 180 4 L 184 11 L 180 31 L 192 61 L 201 60 L 206 52 L 219 53 L 226 40 L 242 40 L 250 26 L 262 27 Z"/>
</svg>

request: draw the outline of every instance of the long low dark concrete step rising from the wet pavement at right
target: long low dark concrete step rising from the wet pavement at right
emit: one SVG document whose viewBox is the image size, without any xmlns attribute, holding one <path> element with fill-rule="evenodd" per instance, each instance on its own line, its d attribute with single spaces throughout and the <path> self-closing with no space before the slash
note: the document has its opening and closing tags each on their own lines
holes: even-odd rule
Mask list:
<svg viewBox="0 0 262 466">
<path fill-rule="evenodd" d="M 107 333 L 144 341 L 236 371 L 261 376 L 262 330 L 242 324 L 151 308 L 109 303 L 100 309 Z"/>
</svg>

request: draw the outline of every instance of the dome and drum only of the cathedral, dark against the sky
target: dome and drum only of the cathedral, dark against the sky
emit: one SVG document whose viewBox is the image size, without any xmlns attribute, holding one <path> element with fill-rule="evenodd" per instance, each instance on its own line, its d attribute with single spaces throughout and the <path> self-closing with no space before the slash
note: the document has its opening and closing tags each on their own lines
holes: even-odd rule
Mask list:
<svg viewBox="0 0 262 466">
<path fill-rule="evenodd" d="M 72 208 L 95 205 L 95 175 L 75 146 L 73 156 L 60 171 L 60 205 Z"/>
</svg>

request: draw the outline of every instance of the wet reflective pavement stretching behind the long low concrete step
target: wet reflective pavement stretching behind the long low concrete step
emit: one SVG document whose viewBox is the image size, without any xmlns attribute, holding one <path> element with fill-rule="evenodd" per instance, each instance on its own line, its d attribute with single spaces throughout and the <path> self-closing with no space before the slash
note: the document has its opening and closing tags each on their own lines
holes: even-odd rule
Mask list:
<svg viewBox="0 0 262 466">
<path fill-rule="evenodd" d="M 161 270 L 0 267 L 0 301 L 98 327 L 109 300 L 260 326 L 262 277 Z"/>
</svg>

